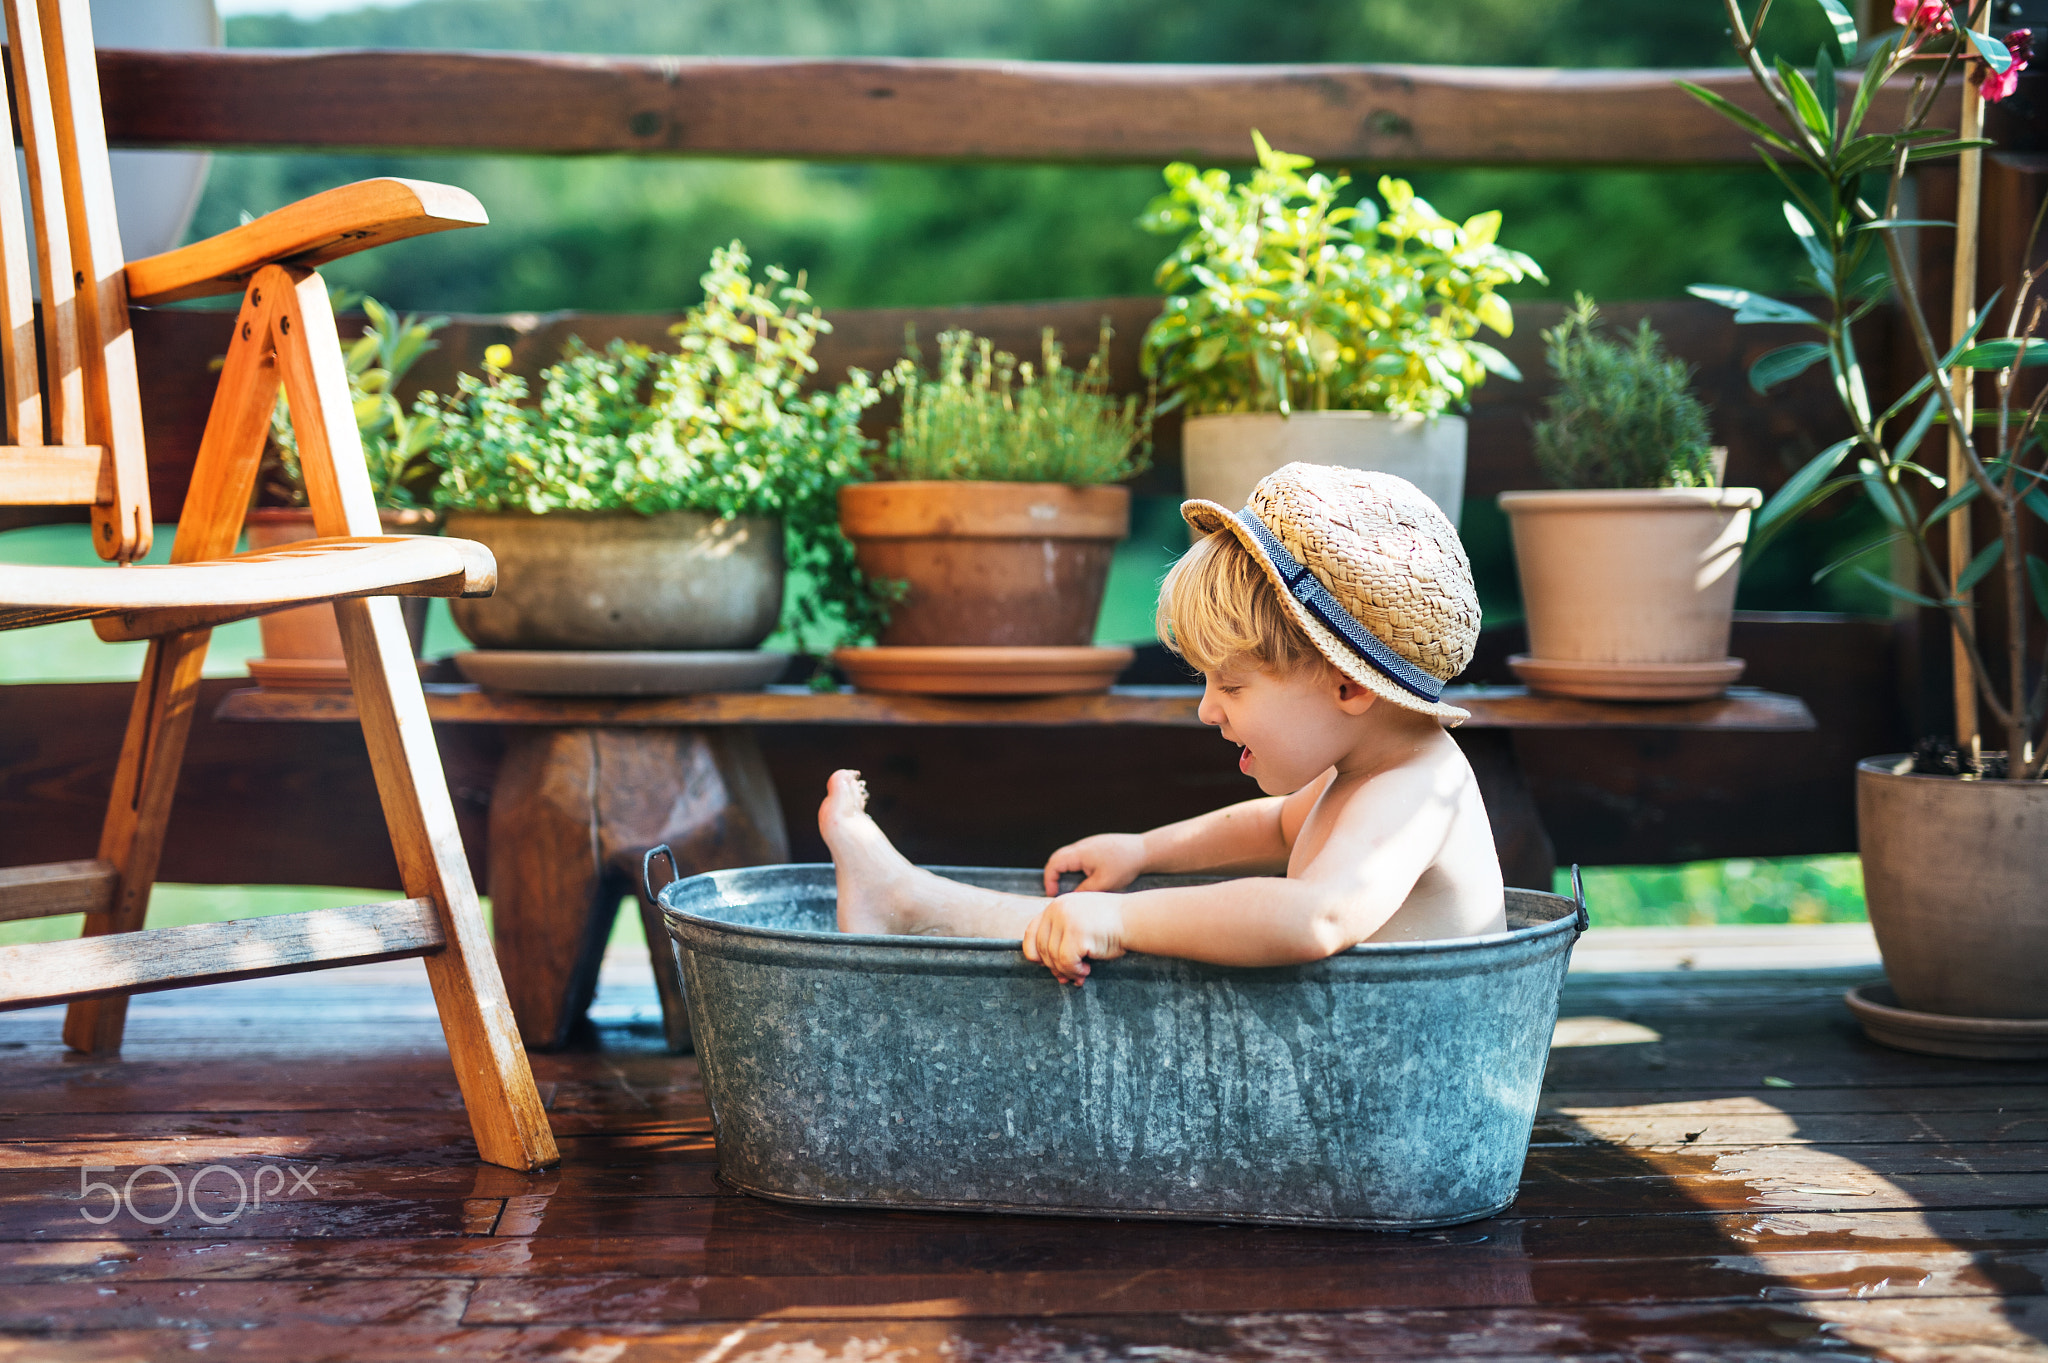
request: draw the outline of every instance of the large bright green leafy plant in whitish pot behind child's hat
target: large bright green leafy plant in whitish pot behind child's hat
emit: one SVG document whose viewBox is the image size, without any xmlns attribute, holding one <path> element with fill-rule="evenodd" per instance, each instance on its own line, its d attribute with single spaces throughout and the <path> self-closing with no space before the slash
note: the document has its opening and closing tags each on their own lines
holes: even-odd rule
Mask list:
<svg viewBox="0 0 2048 1363">
<path fill-rule="evenodd" d="M 1303 460 L 1397 473 L 1452 524 L 1464 499 L 1464 417 L 1487 375 L 1520 379 L 1479 332 L 1513 332 L 1497 289 L 1542 270 L 1495 241 L 1499 213 L 1454 223 L 1407 180 L 1339 207 L 1348 176 L 1307 174 L 1307 156 L 1260 166 L 1165 170 L 1143 225 L 1182 233 L 1157 280 L 1165 311 L 1143 364 L 1184 405 L 1188 495 L 1243 505 L 1274 469 Z"/>
</svg>

